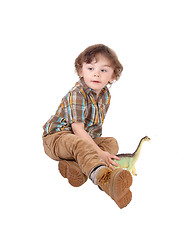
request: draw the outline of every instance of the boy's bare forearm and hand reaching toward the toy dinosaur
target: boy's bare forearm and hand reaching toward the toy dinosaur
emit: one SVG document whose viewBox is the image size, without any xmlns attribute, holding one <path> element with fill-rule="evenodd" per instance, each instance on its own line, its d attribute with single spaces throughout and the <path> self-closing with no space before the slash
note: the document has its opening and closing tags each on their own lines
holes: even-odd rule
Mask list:
<svg viewBox="0 0 184 240">
<path fill-rule="evenodd" d="M 72 123 L 71 126 L 72 126 L 72 130 L 73 130 L 75 135 L 86 139 L 89 143 L 91 143 L 93 145 L 93 147 L 97 151 L 99 157 L 101 159 L 103 159 L 105 163 L 110 164 L 110 167 L 112 169 L 114 169 L 114 167 L 111 164 L 118 167 L 118 164 L 116 162 L 114 162 L 112 159 L 114 158 L 114 159 L 119 160 L 119 158 L 117 156 L 113 155 L 113 154 L 110 154 L 108 152 L 105 152 L 105 151 L 101 150 L 97 146 L 97 144 L 93 141 L 91 136 L 85 131 L 84 123 L 76 122 L 76 123 Z"/>
</svg>

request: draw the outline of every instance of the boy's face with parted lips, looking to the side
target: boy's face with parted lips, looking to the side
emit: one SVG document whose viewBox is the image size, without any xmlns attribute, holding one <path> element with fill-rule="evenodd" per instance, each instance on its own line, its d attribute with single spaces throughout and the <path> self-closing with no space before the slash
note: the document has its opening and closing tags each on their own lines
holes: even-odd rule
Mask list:
<svg viewBox="0 0 184 240">
<path fill-rule="evenodd" d="M 99 95 L 102 88 L 113 82 L 113 73 L 110 60 L 102 54 L 97 54 L 91 63 L 83 63 L 79 75 L 83 77 L 86 85 Z"/>
</svg>

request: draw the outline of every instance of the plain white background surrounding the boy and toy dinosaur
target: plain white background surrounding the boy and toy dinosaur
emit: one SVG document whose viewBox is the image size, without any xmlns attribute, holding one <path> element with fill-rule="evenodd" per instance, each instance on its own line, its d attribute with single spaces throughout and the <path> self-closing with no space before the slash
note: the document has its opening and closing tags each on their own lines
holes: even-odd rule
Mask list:
<svg viewBox="0 0 184 240">
<path fill-rule="evenodd" d="M 182 1 L 1 1 L 1 239 L 184 239 Z M 124 66 L 103 135 L 134 152 L 133 200 L 120 210 L 90 180 L 70 186 L 42 147 L 42 125 L 91 44 Z"/>
</svg>

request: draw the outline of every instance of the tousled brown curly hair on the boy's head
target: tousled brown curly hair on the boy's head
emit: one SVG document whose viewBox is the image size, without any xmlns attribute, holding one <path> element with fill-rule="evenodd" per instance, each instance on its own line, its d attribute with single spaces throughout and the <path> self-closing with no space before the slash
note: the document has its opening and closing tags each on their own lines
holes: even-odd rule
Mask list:
<svg viewBox="0 0 184 240">
<path fill-rule="evenodd" d="M 103 44 L 95 44 L 86 48 L 79 56 L 75 59 L 75 70 L 79 75 L 83 63 L 91 63 L 97 54 L 102 54 L 111 61 L 111 67 L 114 69 L 114 78 L 118 80 L 122 71 L 123 66 L 118 60 L 116 53 L 109 47 Z"/>
</svg>

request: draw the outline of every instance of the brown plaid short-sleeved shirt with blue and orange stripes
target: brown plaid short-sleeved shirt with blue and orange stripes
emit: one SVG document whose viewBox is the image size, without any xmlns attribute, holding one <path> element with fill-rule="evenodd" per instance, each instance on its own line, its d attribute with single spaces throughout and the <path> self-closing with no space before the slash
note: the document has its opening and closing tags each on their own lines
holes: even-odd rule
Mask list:
<svg viewBox="0 0 184 240">
<path fill-rule="evenodd" d="M 92 138 L 100 137 L 110 98 L 105 87 L 96 99 L 96 93 L 81 79 L 62 99 L 56 114 L 45 123 L 43 136 L 63 130 L 72 131 L 71 124 L 81 122 Z"/>
</svg>

